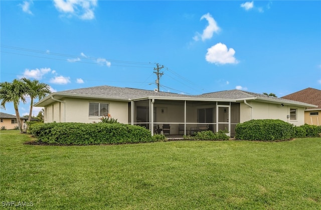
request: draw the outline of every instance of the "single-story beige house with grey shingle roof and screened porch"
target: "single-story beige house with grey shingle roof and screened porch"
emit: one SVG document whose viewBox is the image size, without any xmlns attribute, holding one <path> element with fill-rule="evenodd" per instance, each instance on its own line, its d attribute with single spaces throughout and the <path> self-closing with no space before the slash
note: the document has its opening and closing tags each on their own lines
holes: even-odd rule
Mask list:
<svg viewBox="0 0 321 210">
<path fill-rule="evenodd" d="M 165 124 L 170 134 L 206 128 L 214 132 L 227 129 L 230 136 L 235 135 L 237 123 L 251 119 L 302 125 L 306 107 L 316 107 L 241 90 L 182 95 L 111 86 L 55 92 L 35 106 L 45 108 L 45 123 L 99 122 L 110 113 L 118 122 L 152 128 L 152 134 Z"/>
</svg>

